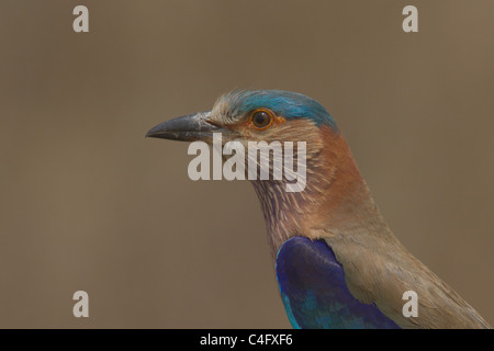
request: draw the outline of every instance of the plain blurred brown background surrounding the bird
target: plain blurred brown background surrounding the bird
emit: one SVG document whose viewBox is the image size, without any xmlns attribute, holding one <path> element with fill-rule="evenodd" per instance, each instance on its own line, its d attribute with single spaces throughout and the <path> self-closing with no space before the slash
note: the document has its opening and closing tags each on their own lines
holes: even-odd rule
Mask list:
<svg viewBox="0 0 494 351">
<path fill-rule="evenodd" d="M 187 144 L 144 138 L 234 88 L 322 102 L 400 240 L 493 324 L 493 13 L 1 1 L 0 327 L 290 327 L 250 184 L 193 182 Z M 78 290 L 89 318 L 72 316 Z"/>
</svg>

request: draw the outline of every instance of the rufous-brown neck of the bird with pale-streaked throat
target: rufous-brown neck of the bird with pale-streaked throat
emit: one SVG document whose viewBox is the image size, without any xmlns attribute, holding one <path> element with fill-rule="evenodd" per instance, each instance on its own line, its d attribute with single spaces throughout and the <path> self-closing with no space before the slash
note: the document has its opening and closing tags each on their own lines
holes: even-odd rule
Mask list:
<svg viewBox="0 0 494 351">
<path fill-rule="evenodd" d="M 350 236 L 363 228 L 389 231 L 341 134 L 324 126 L 317 133 L 321 147 L 307 156 L 307 185 L 303 192 L 285 192 L 284 181 L 252 181 L 273 258 L 293 236 Z"/>
</svg>

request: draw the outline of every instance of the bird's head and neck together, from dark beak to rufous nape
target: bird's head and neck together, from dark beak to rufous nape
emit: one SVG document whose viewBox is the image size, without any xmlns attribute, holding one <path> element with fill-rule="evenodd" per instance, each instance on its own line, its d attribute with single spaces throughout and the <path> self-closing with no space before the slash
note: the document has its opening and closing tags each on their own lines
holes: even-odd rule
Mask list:
<svg viewBox="0 0 494 351">
<path fill-rule="evenodd" d="M 323 105 L 300 93 L 234 91 L 221 97 L 211 111 L 169 120 L 146 136 L 212 144 L 215 133 L 222 134 L 223 144 L 239 141 L 245 147 L 249 141 L 305 141 L 304 191 L 288 193 L 280 186 L 283 181 L 252 181 L 273 253 L 290 236 L 311 237 L 312 227 L 326 226 L 321 222 L 330 217 L 328 213 L 336 214 L 338 208 L 349 212 L 356 196 L 367 194 L 367 185 L 335 121 Z"/>
</svg>

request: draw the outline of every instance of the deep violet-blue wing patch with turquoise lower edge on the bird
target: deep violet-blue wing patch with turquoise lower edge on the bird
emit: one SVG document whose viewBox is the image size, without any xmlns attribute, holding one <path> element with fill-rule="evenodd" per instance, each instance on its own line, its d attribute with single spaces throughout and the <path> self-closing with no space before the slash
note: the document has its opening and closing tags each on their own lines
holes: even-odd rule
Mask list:
<svg viewBox="0 0 494 351">
<path fill-rule="evenodd" d="M 324 240 L 287 240 L 278 251 L 277 278 L 293 328 L 400 328 L 375 305 L 351 295 L 344 270 Z"/>
</svg>

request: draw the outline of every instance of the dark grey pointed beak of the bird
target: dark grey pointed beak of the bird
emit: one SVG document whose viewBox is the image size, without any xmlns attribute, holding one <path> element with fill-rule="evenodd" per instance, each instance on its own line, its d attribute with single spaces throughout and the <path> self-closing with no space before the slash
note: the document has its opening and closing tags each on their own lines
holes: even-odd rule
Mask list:
<svg viewBox="0 0 494 351">
<path fill-rule="evenodd" d="M 146 137 L 182 141 L 210 141 L 213 133 L 226 132 L 209 122 L 211 111 L 189 114 L 158 124 L 147 132 Z"/>
</svg>

